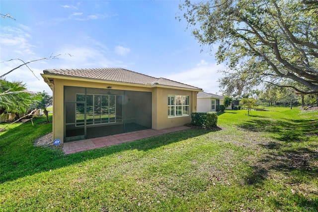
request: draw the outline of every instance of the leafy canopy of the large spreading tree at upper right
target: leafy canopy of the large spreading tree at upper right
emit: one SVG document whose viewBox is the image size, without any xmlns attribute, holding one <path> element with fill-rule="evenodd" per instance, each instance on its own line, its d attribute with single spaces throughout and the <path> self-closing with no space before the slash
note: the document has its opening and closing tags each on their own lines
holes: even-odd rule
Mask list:
<svg viewBox="0 0 318 212">
<path fill-rule="evenodd" d="M 228 93 L 261 82 L 318 93 L 318 1 L 185 0 L 179 6 L 202 45 L 219 44 L 216 58 L 228 66 L 221 87 Z M 286 79 L 295 83 L 285 85 Z"/>
</svg>

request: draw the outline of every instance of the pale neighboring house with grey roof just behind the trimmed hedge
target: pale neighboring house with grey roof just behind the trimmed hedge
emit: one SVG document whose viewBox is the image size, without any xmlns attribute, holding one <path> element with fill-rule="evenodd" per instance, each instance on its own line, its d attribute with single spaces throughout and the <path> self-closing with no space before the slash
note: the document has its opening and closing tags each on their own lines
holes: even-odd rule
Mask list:
<svg viewBox="0 0 318 212">
<path fill-rule="evenodd" d="M 223 105 L 223 96 L 216 94 L 199 92 L 197 94 L 198 112 L 219 111 L 219 106 Z"/>
</svg>

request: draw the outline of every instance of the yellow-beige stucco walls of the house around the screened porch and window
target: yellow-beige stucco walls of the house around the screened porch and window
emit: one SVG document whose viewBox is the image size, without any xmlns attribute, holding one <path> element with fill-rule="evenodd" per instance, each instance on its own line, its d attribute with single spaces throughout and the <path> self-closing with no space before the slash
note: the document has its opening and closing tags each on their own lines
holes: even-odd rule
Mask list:
<svg viewBox="0 0 318 212">
<path fill-rule="evenodd" d="M 48 78 L 50 80 L 50 78 Z M 138 87 L 134 85 L 111 84 L 103 82 L 85 82 L 67 79 L 51 79 L 53 90 L 53 139 L 64 142 L 64 86 L 101 88 L 111 86 L 114 90 L 143 91 L 152 93 L 152 128 L 164 129 L 181 126 L 191 122 L 191 116 L 169 117 L 167 114 L 168 95 L 190 96 L 190 114 L 197 109 L 197 91 L 187 91 L 160 87 Z"/>
</svg>

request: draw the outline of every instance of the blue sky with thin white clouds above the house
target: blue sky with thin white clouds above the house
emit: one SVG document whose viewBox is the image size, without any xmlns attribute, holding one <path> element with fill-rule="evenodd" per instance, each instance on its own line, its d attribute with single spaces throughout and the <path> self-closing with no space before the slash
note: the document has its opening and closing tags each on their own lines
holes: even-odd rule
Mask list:
<svg viewBox="0 0 318 212">
<path fill-rule="evenodd" d="M 45 69 L 123 68 L 221 95 L 217 46 L 201 46 L 179 0 L 0 0 L 0 75 L 47 92 Z M 10 61 L 9 61 L 10 60 Z"/>
</svg>

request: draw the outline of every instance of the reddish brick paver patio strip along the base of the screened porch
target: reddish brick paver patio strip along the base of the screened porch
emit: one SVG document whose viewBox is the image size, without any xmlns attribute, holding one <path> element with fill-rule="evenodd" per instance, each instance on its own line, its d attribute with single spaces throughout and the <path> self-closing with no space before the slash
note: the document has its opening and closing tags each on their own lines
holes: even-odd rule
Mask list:
<svg viewBox="0 0 318 212">
<path fill-rule="evenodd" d="M 177 126 L 167 129 L 145 129 L 134 132 L 126 132 L 121 134 L 109 135 L 105 137 L 91 138 L 73 142 L 65 142 L 63 151 L 64 154 L 72 154 L 76 152 L 81 152 L 89 149 L 95 149 L 105 146 L 116 145 L 124 142 L 139 140 L 143 138 L 154 137 L 162 134 L 166 134 L 169 132 L 176 132 L 184 129 L 189 129 L 187 126 Z"/>
</svg>

